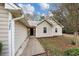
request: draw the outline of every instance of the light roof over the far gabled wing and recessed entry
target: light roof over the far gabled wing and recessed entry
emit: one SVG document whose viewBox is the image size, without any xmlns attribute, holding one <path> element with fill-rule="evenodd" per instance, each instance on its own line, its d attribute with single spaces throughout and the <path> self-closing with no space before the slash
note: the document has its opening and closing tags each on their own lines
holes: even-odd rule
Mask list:
<svg viewBox="0 0 79 59">
<path fill-rule="evenodd" d="M 64 27 L 61 23 L 59 23 L 55 18 L 53 17 L 45 17 L 42 21 L 32 21 L 28 20 L 28 24 L 30 27 L 36 27 L 40 25 L 42 22 L 47 22 L 49 25 L 54 26 L 54 24 L 58 24 L 60 27 Z"/>
</svg>

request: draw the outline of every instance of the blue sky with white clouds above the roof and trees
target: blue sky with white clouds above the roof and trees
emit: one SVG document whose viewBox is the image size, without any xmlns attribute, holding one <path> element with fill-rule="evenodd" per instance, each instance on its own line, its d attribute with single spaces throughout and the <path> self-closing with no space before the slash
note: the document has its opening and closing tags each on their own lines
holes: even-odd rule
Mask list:
<svg viewBox="0 0 79 59">
<path fill-rule="evenodd" d="M 20 7 L 23 8 L 24 13 L 26 14 L 39 14 L 45 15 L 50 13 L 49 10 L 57 9 L 56 4 L 49 4 L 49 3 L 20 3 L 18 4 Z"/>
</svg>

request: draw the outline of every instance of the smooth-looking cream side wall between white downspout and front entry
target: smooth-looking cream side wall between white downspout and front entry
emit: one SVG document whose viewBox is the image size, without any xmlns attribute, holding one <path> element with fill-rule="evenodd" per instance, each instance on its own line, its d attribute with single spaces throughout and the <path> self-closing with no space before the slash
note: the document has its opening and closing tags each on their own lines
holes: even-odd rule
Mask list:
<svg viewBox="0 0 79 59">
<path fill-rule="evenodd" d="M 15 53 L 19 51 L 21 45 L 27 39 L 27 37 L 28 37 L 27 27 L 24 26 L 21 22 L 16 21 L 15 22 Z"/>
</svg>

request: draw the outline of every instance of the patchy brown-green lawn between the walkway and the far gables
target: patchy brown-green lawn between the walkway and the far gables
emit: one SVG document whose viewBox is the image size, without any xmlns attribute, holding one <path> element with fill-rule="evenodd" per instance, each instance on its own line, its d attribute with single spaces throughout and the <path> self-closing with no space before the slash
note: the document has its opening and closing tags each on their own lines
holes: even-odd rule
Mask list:
<svg viewBox="0 0 79 59">
<path fill-rule="evenodd" d="M 48 51 L 50 56 L 62 56 L 64 50 L 69 48 L 78 48 L 79 45 L 72 45 L 71 40 L 73 37 L 59 36 L 50 38 L 38 38 L 39 42 Z"/>
</svg>

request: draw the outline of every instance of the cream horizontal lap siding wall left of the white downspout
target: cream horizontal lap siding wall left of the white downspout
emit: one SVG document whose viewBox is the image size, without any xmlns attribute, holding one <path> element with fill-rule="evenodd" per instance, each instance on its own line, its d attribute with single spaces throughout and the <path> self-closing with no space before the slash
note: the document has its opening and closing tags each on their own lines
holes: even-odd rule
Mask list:
<svg viewBox="0 0 79 59">
<path fill-rule="evenodd" d="M 8 45 L 8 17 L 7 10 L 0 9 L 0 42 L 3 44 L 2 55 L 9 55 Z"/>
</svg>

